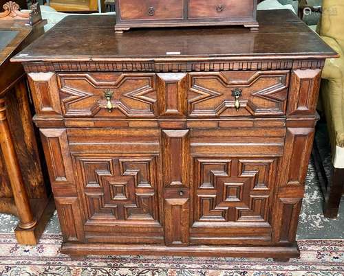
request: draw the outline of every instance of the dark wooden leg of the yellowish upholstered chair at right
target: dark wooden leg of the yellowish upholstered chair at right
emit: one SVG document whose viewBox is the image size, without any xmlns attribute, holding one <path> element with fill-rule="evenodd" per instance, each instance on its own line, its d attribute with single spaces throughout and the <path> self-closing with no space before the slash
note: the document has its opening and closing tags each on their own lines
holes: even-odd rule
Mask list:
<svg viewBox="0 0 344 276">
<path fill-rule="evenodd" d="M 324 216 L 336 218 L 344 190 L 344 169 L 334 168 L 332 183 L 325 195 Z"/>
</svg>

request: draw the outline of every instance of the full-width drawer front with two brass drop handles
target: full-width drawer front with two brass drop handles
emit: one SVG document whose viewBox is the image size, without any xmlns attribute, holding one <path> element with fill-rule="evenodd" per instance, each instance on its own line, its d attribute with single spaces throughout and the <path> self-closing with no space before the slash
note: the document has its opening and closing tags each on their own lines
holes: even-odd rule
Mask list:
<svg viewBox="0 0 344 276">
<path fill-rule="evenodd" d="M 280 116 L 288 83 L 289 71 L 60 73 L 58 93 L 69 118 Z"/>
</svg>

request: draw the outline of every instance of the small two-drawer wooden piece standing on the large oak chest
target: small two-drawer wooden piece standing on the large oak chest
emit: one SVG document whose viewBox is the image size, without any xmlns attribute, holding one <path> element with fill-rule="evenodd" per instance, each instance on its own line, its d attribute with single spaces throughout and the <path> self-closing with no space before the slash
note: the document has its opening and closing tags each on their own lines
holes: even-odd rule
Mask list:
<svg viewBox="0 0 344 276">
<path fill-rule="evenodd" d="M 257 30 L 257 0 L 116 0 L 116 34 L 131 27 L 244 25 Z"/>
</svg>

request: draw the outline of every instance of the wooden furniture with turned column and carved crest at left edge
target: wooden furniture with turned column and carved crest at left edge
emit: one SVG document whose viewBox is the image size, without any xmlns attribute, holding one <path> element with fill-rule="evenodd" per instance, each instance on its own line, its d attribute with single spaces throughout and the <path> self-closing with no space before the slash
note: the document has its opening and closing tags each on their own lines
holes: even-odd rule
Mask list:
<svg viewBox="0 0 344 276">
<path fill-rule="evenodd" d="M 43 34 L 39 10 L 19 11 L 8 2 L 0 13 L 0 211 L 19 218 L 21 244 L 36 244 L 54 211 L 32 124 L 25 71 L 10 58 Z M 37 22 L 31 26 L 30 23 Z"/>
</svg>

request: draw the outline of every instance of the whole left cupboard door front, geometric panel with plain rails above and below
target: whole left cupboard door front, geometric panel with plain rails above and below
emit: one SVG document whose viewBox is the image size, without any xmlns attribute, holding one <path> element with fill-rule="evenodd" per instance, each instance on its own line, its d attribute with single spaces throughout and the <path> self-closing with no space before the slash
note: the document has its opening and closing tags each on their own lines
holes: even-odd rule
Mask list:
<svg viewBox="0 0 344 276">
<path fill-rule="evenodd" d="M 90 242 L 164 242 L 160 135 L 155 128 L 68 128 Z"/>
</svg>

